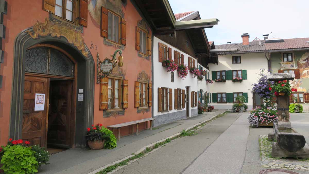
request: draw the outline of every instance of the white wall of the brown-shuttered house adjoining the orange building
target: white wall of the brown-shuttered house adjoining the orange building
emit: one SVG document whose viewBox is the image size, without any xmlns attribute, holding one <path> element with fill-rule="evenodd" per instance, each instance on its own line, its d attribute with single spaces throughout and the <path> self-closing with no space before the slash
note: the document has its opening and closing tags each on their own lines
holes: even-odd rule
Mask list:
<svg viewBox="0 0 309 174">
<path fill-rule="evenodd" d="M 191 107 L 191 91 L 198 91 L 197 88 L 197 77 L 193 78 L 193 75 L 188 72 L 188 76 L 186 77 L 186 79 L 181 80 L 178 77 L 178 73 L 177 71 L 174 72 L 174 82 L 171 82 L 171 73 L 166 71 L 166 67 L 162 66 L 162 63 L 159 62 L 159 42 L 163 43 L 164 45 L 167 45 L 169 48 L 172 49 L 172 59 L 174 60 L 174 50 L 179 51 L 181 54 L 184 54 L 184 64 L 186 64 L 188 66 L 188 57 L 192 57 L 189 56 L 188 54 L 185 54 L 183 51 L 176 49 L 175 47 L 167 44 L 164 41 L 161 41 L 159 38 L 154 37 L 154 49 L 153 49 L 153 57 L 154 57 L 154 82 L 153 82 L 153 108 L 154 108 L 154 118 L 157 115 L 162 115 L 162 114 L 167 114 L 167 113 L 172 113 L 172 112 L 178 112 L 178 111 L 186 111 L 186 103 L 185 103 L 185 108 L 184 109 L 179 109 L 176 110 L 174 108 L 174 89 L 176 88 L 180 88 L 180 89 L 184 89 L 185 90 L 185 94 L 187 94 L 186 92 L 186 86 L 190 86 L 189 88 L 189 95 L 187 98 L 187 101 L 189 102 L 189 117 L 194 116 L 191 115 L 191 109 L 197 109 L 197 107 Z M 194 58 L 193 58 L 194 59 Z M 195 66 L 197 67 L 197 59 L 195 59 Z M 167 112 L 158 112 L 158 88 L 161 87 L 165 87 L 165 88 L 172 88 L 173 94 L 172 94 L 172 101 L 173 101 L 173 110 L 171 111 L 167 111 Z M 184 115 L 184 118 L 186 116 Z"/>
</svg>

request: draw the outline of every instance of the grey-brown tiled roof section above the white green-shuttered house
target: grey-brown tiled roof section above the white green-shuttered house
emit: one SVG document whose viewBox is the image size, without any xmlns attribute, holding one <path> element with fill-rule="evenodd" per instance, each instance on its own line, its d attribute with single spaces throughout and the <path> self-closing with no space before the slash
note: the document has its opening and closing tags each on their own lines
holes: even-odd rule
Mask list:
<svg viewBox="0 0 309 174">
<path fill-rule="evenodd" d="M 216 45 L 216 49 L 231 49 L 231 48 L 237 48 L 239 50 L 238 52 L 255 52 L 255 51 L 266 50 L 265 43 L 263 43 L 263 41 L 252 41 L 249 42 L 249 45 L 244 46 L 243 43 Z"/>
</svg>

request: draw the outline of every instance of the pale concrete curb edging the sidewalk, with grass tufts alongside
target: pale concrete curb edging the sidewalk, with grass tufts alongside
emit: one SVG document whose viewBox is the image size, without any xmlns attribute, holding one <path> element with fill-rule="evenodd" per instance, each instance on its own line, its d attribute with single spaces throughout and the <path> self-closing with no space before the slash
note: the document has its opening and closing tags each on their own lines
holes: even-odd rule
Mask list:
<svg viewBox="0 0 309 174">
<path fill-rule="evenodd" d="M 223 114 L 224 112 L 226 112 L 226 111 L 223 111 L 221 114 Z M 221 115 L 221 114 L 218 114 L 218 115 Z M 201 121 L 201 122 L 199 122 L 199 123 L 197 123 L 197 124 L 194 124 L 193 126 L 190 126 L 190 127 L 186 128 L 186 129 L 184 129 L 184 130 L 186 130 L 186 131 L 192 130 L 193 128 L 195 128 L 195 127 L 197 127 L 197 126 L 200 126 L 201 124 L 208 123 L 208 122 L 210 122 L 210 121 L 216 119 L 216 118 L 218 117 L 218 115 L 215 115 L 215 116 L 211 117 L 210 119 L 207 119 L 207 120 Z M 156 142 L 154 142 L 154 143 L 151 143 L 151 144 L 149 144 L 149 145 L 147 145 L 147 146 L 142 147 L 140 150 L 136 151 L 136 152 L 135 152 L 134 154 L 132 154 L 132 155 L 129 155 L 129 156 L 123 158 L 123 159 L 117 160 L 117 161 L 115 161 L 115 162 L 113 162 L 113 163 L 109 163 L 109 164 L 107 164 L 107 165 L 105 165 L 105 166 L 103 166 L 103 167 L 100 167 L 100 168 L 98 168 L 98 169 L 92 171 L 92 172 L 89 172 L 88 174 L 95 174 L 95 173 L 97 173 L 97 172 L 99 172 L 99 171 L 101 171 L 101 170 L 104 170 L 105 168 L 107 168 L 107 167 L 109 167 L 109 166 L 112 166 L 112 165 L 115 165 L 115 164 L 120 163 L 120 162 L 122 162 L 122 161 L 125 161 L 125 160 L 127 160 L 127 159 L 133 157 L 134 155 L 137 155 L 137 154 L 139 154 L 139 153 L 141 153 L 141 152 L 145 152 L 145 150 L 146 150 L 147 147 L 150 148 L 150 149 L 153 149 L 153 147 L 154 147 L 157 143 L 164 142 L 167 138 L 169 138 L 169 139 L 174 139 L 174 138 L 175 138 L 175 139 L 176 139 L 176 138 L 178 138 L 179 136 L 180 136 L 180 132 L 179 132 L 179 133 L 175 133 L 174 135 L 171 135 L 171 136 L 169 136 L 169 137 L 166 137 L 165 139 L 161 139 L 161 140 L 159 140 L 159 141 L 156 141 Z M 175 139 L 174 139 L 174 140 L 175 140 Z M 174 141 L 174 140 L 173 140 L 173 141 Z M 171 141 L 171 142 L 172 142 L 172 141 Z M 169 142 L 169 143 L 170 143 L 170 142 Z M 167 144 L 168 144 L 168 143 L 167 143 Z M 140 157 L 140 158 L 142 158 L 142 157 Z M 140 159 L 140 158 L 138 158 L 138 159 Z M 136 161 L 136 160 L 138 160 L 138 159 L 135 159 L 134 161 Z M 121 168 L 122 168 L 122 167 L 124 167 L 124 166 L 121 166 Z M 117 168 L 118 168 L 118 167 L 117 167 Z M 120 169 L 120 168 L 119 168 L 119 169 Z M 118 170 L 118 169 L 116 169 L 116 170 Z M 113 171 L 112 171 L 112 172 L 113 172 Z"/>
</svg>

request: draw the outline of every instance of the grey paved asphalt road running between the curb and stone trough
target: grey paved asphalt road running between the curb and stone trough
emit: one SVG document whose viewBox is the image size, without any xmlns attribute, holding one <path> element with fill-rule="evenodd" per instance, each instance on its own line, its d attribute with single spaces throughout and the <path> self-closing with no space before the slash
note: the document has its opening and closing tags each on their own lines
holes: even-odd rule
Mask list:
<svg viewBox="0 0 309 174">
<path fill-rule="evenodd" d="M 228 113 L 198 129 L 197 135 L 177 139 L 115 173 L 259 173 L 265 168 L 258 137 L 271 128 L 249 130 L 247 117 L 248 113 Z M 291 115 L 291 122 L 308 141 L 309 114 Z"/>
</svg>

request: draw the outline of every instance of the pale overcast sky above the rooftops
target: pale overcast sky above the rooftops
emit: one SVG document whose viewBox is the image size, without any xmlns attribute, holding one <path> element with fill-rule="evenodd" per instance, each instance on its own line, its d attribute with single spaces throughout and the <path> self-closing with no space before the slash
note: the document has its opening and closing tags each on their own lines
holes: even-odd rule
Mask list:
<svg viewBox="0 0 309 174">
<path fill-rule="evenodd" d="M 199 11 L 201 19 L 217 18 L 218 25 L 206 28 L 215 45 L 249 41 L 272 32 L 272 37 L 309 37 L 309 0 L 169 0 L 174 14 Z"/>
</svg>

